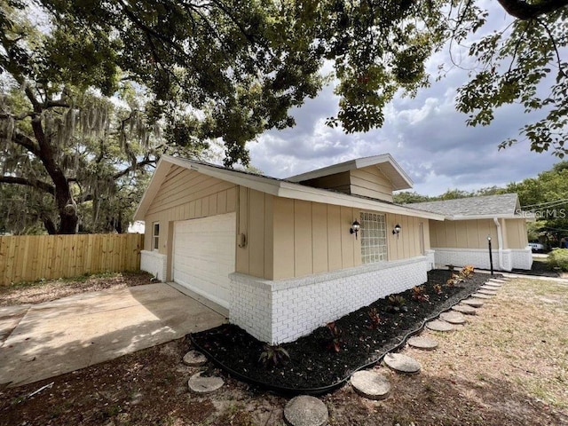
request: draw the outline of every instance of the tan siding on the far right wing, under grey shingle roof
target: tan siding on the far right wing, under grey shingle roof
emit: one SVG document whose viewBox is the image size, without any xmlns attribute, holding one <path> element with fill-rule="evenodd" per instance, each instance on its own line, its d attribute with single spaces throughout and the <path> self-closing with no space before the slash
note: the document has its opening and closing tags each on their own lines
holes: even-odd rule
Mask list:
<svg viewBox="0 0 568 426">
<path fill-rule="evenodd" d="M 503 248 L 525 248 L 525 219 L 500 219 Z M 487 248 L 487 236 L 497 244 L 497 226 L 493 219 L 430 220 L 430 246 L 436 248 Z"/>
</svg>

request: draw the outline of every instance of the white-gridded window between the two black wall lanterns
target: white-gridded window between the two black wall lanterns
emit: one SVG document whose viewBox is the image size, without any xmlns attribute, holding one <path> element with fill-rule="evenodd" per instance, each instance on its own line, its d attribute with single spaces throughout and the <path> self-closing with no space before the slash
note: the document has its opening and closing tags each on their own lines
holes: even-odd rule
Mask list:
<svg viewBox="0 0 568 426">
<path fill-rule="evenodd" d="M 388 260 L 386 215 L 362 211 L 360 223 L 361 262 L 374 264 Z"/>
</svg>

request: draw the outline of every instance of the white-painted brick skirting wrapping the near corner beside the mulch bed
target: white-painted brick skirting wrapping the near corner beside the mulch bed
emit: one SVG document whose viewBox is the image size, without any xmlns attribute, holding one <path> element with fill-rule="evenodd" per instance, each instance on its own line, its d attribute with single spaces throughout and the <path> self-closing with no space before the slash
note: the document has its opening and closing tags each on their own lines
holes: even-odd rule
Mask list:
<svg viewBox="0 0 568 426">
<path fill-rule="evenodd" d="M 381 297 L 424 283 L 428 256 L 289 280 L 229 275 L 229 319 L 268 343 L 286 343 Z"/>
</svg>

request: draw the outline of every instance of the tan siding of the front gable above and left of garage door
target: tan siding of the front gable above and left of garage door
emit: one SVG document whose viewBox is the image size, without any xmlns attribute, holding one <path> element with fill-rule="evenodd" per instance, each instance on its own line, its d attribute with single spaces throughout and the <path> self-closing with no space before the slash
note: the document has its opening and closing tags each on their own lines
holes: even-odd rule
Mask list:
<svg viewBox="0 0 568 426">
<path fill-rule="evenodd" d="M 146 229 L 151 229 L 154 222 L 161 224 L 159 252 L 167 254 L 174 221 L 231 213 L 236 210 L 236 203 L 237 185 L 172 166 L 146 212 Z M 163 238 L 166 234 L 168 237 Z M 144 247 L 151 248 L 151 240 L 152 233 L 146 232 Z"/>
</svg>

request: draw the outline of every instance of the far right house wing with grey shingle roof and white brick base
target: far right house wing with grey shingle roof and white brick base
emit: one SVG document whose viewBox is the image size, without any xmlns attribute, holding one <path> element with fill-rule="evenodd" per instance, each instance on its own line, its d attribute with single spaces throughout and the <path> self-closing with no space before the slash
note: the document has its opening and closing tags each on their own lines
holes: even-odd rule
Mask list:
<svg viewBox="0 0 568 426">
<path fill-rule="evenodd" d="M 430 221 L 430 248 L 435 263 L 489 269 L 487 237 L 491 237 L 493 268 L 499 271 L 531 269 L 526 215 L 516 193 L 487 195 L 446 201 L 406 204 L 414 209 L 438 213 L 443 222 Z"/>
</svg>

